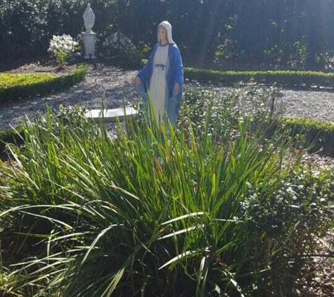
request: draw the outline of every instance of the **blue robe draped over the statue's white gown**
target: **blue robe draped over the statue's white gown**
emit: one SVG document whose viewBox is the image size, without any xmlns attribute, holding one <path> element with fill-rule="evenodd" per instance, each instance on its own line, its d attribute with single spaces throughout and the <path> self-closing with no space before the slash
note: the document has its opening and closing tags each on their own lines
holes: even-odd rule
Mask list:
<svg viewBox="0 0 334 297">
<path fill-rule="evenodd" d="M 148 58 L 148 62 L 137 75 L 141 79 L 141 84 L 136 87 L 136 89 L 139 93 L 139 96 L 141 96 L 141 98 L 143 99 L 144 106 L 147 106 L 148 103 L 148 84 L 150 82 L 150 77 L 153 72 L 153 58 L 155 55 L 155 51 L 157 51 L 158 49 L 158 45 L 159 44 L 155 44 L 153 51 L 150 54 L 150 58 Z M 168 57 L 169 68 L 167 70 L 166 79 L 169 98 L 165 99 L 165 110 L 167 112 L 169 121 L 174 126 L 175 120 L 179 115 L 179 108 L 182 100 L 182 92 L 184 87 L 184 67 L 182 65 L 181 53 L 176 44 L 169 44 Z M 176 82 L 178 82 L 180 86 L 180 91 L 177 95 L 174 94 L 174 85 Z M 166 125 L 167 122 L 165 116 L 164 120 Z"/>
</svg>

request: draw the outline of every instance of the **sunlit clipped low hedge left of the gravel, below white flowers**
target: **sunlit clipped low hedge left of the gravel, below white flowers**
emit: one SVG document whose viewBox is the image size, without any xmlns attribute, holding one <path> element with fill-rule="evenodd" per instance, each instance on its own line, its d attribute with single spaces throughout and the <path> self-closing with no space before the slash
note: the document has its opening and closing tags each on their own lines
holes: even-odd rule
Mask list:
<svg viewBox="0 0 334 297">
<path fill-rule="evenodd" d="M 79 65 L 67 75 L 13 75 L 9 80 L 8 75 L 0 75 L 0 80 L 6 80 L 6 84 L 0 84 L 0 103 L 13 101 L 30 96 L 44 96 L 54 90 L 67 89 L 81 82 L 86 77 L 86 66 Z"/>
</svg>

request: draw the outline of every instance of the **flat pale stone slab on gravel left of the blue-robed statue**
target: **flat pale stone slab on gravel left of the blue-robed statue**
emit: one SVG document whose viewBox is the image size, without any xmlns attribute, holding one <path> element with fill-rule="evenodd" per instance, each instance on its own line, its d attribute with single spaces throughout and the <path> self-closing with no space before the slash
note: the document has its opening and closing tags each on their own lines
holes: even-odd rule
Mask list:
<svg viewBox="0 0 334 297">
<path fill-rule="evenodd" d="M 125 111 L 125 114 L 124 114 Z M 135 110 L 132 107 L 124 108 L 115 108 L 115 109 L 106 109 L 103 110 L 103 116 L 105 122 L 116 122 L 118 118 L 120 121 L 124 120 L 124 115 L 127 117 L 131 117 L 138 114 L 138 110 Z M 101 109 L 92 109 L 89 110 L 86 114 L 86 118 L 91 118 L 98 122 L 102 118 L 102 110 Z"/>
</svg>

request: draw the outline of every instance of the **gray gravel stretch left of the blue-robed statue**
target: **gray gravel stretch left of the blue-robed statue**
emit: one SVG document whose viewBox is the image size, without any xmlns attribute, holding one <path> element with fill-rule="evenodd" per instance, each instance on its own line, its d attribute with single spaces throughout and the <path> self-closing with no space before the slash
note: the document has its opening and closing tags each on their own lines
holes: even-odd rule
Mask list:
<svg viewBox="0 0 334 297">
<path fill-rule="evenodd" d="M 89 65 L 85 80 L 70 89 L 43 97 L 4 103 L 0 106 L 0 130 L 15 126 L 25 115 L 32 118 L 39 110 L 44 112 L 46 106 L 58 110 L 60 105 L 80 104 L 90 109 L 100 109 L 102 103 L 108 108 L 122 107 L 123 101 L 127 105 L 134 103 L 139 100 L 131 84 L 135 75 L 136 71 L 99 65 L 94 70 L 93 66 Z"/>
</svg>

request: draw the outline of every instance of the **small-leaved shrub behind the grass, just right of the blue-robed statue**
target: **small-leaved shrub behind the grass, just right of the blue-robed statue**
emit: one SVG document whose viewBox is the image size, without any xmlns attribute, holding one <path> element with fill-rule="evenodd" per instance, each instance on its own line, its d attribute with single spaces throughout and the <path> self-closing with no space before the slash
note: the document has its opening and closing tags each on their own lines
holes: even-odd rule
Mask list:
<svg viewBox="0 0 334 297">
<path fill-rule="evenodd" d="M 216 141 L 222 141 L 228 135 L 237 137 L 238 121 L 245 122 L 248 118 L 252 119 L 248 132 L 264 129 L 269 133 L 276 118 L 281 118 L 284 113 L 284 108 L 273 106 L 278 91 L 280 89 L 276 87 L 248 86 L 217 94 L 213 87 L 188 84 L 184 90 L 184 101 L 186 106 L 191 106 L 187 117 L 193 125 L 193 133 L 202 138 L 203 128 L 207 125 L 204 130 L 209 134 L 215 131 Z"/>
</svg>

